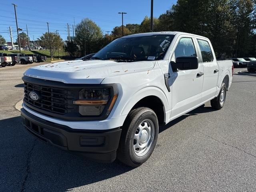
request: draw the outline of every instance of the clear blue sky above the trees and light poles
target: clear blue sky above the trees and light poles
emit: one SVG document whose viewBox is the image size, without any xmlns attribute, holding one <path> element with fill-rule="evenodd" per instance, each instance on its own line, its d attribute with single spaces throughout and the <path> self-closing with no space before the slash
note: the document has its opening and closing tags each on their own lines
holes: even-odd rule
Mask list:
<svg viewBox="0 0 256 192">
<path fill-rule="evenodd" d="M 14 7 L 16 7 L 18 28 L 26 30 L 30 40 L 39 38 L 47 31 L 49 22 L 50 32 L 59 30 L 63 40 L 67 38 L 67 23 L 78 24 L 83 18 L 90 18 L 105 34 L 115 26 L 122 25 L 121 14 L 124 15 L 124 25 L 128 23 L 140 24 L 145 16 L 150 16 L 150 0 L 1 0 L 0 2 L 0 34 L 6 41 L 10 41 L 9 26 L 12 27 L 14 41 L 17 38 Z M 160 2 L 160 3 L 159 3 Z M 154 17 L 166 12 L 176 3 L 176 0 L 154 0 Z M 26 32 L 26 31 L 25 31 Z"/>
</svg>

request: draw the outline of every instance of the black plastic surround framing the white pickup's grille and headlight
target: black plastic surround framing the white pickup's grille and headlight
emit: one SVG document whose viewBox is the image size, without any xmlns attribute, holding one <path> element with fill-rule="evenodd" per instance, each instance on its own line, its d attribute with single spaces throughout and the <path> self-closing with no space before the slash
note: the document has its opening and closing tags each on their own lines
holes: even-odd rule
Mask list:
<svg viewBox="0 0 256 192">
<path fill-rule="evenodd" d="M 94 120 L 104 120 L 106 119 L 110 112 L 108 112 L 108 107 L 110 106 L 110 103 L 114 97 L 115 94 L 118 94 L 118 86 L 117 84 L 66 84 L 63 82 L 56 82 L 56 81 L 51 81 L 51 80 L 43 80 L 43 79 L 38 79 L 38 78 L 32 78 L 32 77 L 27 77 L 23 76 L 22 80 L 24 82 L 28 82 L 31 84 L 36 84 L 36 85 L 41 85 L 41 86 L 49 86 L 49 87 L 54 87 L 54 88 L 63 88 L 63 89 L 68 89 L 68 90 L 82 90 L 84 88 L 110 88 L 110 99 L 108 100 L 108 103 L 106 104 L 103 112 L 99 116 L 82 116 L 77 113 L 68 113 L 68 114 L 57 114 L 54 112 L 48 112 L 46 110 L 42 110 L 40 108 L 37 108 L 35 106 L 30 105 L 27 103 L 25 100 L 23 100 L 24 104 L 41 114 L 45 114 L 47 116 L 50 116 L 52 118 L 58 118 L 61 120 L 68 120 L 68 121 L 94 121 Z"/>
</svg>

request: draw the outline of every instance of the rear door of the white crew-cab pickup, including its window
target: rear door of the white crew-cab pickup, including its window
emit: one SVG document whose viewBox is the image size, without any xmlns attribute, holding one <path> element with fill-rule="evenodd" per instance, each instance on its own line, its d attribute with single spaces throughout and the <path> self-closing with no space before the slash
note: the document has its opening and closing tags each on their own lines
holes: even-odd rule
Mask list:
<svg viewBox="0 0 256 192">
<path fill-rule="evenodd" d="M 214 98 L 217 91 L 219 66 L 214 58 L 213 49 L 206 39 L 196 39 L 200 51 L 202 66 L 204 68 L 204 82 L 202 87 L 202 102 Z"/>
</svg>

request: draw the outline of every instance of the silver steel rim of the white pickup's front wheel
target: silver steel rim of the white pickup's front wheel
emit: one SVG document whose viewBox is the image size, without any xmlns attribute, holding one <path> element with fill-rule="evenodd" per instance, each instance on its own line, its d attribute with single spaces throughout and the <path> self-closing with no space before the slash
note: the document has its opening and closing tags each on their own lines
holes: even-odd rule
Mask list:
<svg viewBox="0 0 256 192">
<path fill-rule="evenodd" d="M 144 156 L 154 141 L 155 127 L 151 120 L 146 119 L 140 123 L 134 134 L 133 150 L 137 156 Z"/>
</svg>

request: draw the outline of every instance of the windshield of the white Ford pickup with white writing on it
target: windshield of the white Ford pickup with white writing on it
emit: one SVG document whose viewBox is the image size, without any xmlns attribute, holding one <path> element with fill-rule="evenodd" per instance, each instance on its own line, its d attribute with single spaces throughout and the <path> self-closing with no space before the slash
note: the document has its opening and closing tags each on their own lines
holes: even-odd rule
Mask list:
<svg viewBox="0 0 256 192">
<path fill-rule="evenodd" d="M 114 40 L 92 59 L 100 60 L 162 60 L 174 35 L 151 35 L 119 38 Z"/>
</svg>

